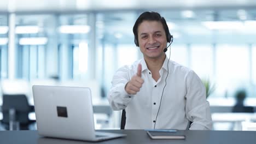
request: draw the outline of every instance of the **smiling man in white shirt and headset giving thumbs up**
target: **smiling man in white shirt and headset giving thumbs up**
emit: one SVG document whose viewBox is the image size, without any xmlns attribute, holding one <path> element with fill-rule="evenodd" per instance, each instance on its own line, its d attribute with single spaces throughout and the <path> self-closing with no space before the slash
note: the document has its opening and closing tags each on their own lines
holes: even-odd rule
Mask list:
<svg viewBox="0 0 256 144">
<path fill-rule="evenodd" d="M 125 109 L 125 129 L 211 129 L 205 86 L 165 55 L 172 35 L 164 17 L 141 14 L 133 33 L 144 58 L 117 71 L 108 95 L 113 110 Z"/>
</svg>

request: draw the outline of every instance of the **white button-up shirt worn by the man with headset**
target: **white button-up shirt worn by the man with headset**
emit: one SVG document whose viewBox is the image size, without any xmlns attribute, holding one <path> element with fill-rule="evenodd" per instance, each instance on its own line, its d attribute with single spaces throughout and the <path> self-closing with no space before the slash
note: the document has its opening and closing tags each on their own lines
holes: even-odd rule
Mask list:
<svg viewBox="0 0 256 144">
<path fill-rule="evenodd" d="M 206 101 L 206 89 L 200 78 L 190 70 L 167 57 L 159 71 L 156 82 L 144 59 L 117 70 L 112 80 L 108 101 L 113 110 L 126 111 L 125 129 L 153 129 L 156 115 L 156 129 L 212 129 L 210 105 Z M 137 73 L 138 64 L 142 64 L 144 83 L 135 95 L 127 94 L 125 85 Z M 166 79 L 167 76 L 167 79 Z M 165 86 L 162 95 L 163 88 Z M 161 100 L 162 96 L 162 100 Z"/>
</svg>

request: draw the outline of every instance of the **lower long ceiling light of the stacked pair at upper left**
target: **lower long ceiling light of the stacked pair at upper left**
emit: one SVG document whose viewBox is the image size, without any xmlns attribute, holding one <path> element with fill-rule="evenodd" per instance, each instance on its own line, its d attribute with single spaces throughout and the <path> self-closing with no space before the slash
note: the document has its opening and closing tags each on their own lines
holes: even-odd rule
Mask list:
<svg viewBox="0 0 256 144">
<path fill-rule="evenodd" d="M 48 39 L 45 37 L 38 38 L 20 38 L 20 45 L 45 45 L 48 42 Z"/>
</svg>

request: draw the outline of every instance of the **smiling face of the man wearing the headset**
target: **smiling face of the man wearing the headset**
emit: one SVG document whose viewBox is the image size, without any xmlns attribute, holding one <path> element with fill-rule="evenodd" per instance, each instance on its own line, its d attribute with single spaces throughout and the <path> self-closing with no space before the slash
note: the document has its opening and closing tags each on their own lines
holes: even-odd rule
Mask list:
<svg viewBox="0 0 256 144">
<path fill-rule="evenodd" d="M 167 40 L 160 21 L 143 21 L 138 26 L 139 48 L 144 58 L 157 59 L 165 56 Z"/>
</svg>

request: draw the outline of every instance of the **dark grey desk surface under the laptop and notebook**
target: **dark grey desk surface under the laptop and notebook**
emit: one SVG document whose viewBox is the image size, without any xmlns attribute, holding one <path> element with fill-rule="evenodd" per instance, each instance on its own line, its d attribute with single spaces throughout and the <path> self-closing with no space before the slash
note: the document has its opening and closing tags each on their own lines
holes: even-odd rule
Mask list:
<svg viewBox="0 0 256 144">
<path fill-rule="evenodd" d="M 127 137 L 107 140 L 100 143 L 256 143 L 256 131 L 205 131 L 205 130 L 181 130 L 179 133 L 184 133 L 185 140 L 151 140 L 144 130 L 99 130 L 109 131 L 113 133 L 124 133 Z M 37 131 L 0 131 L 1 143 L 26 143 L 26 144 L 52 144 L 52 143 L 90 143 L 85 141 L 63 140 L 63 139 L 50 139 L 40 137 Z M 95 142 L 92 142 L 95 143 Z"/>
</svg>

